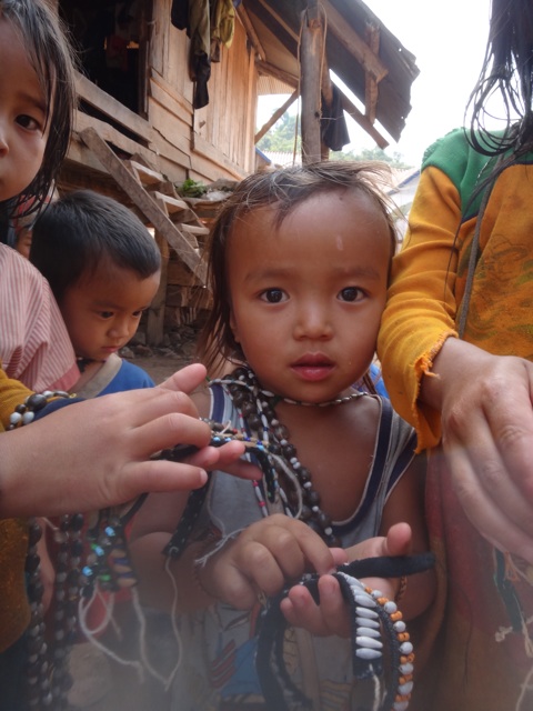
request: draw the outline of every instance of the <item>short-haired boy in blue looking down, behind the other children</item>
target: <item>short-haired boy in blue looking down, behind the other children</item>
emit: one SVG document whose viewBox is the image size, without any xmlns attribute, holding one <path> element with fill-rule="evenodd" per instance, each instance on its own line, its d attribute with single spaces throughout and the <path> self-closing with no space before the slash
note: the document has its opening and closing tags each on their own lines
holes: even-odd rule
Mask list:
<svg viewBox="0 0 533 711">
<path fill-rule="evenodd" d="M 159 248 L 139 218 L 111 198 L 78 190 L 33 226 L 30 261 L 59 304 L 80 369 L 78 395 L 153 385 L 118 351 L 135 333 L 159 287 Z"/>
</svg>

